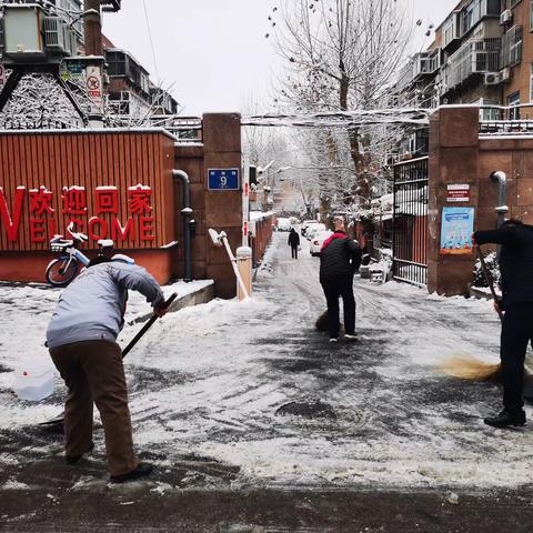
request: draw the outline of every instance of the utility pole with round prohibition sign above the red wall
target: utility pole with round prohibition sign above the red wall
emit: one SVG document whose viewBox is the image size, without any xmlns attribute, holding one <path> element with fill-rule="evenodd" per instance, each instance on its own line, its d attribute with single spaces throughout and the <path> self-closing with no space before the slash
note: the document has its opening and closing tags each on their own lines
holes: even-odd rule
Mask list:
<svg viewBox="0 0 533 533">
<path fill-rule="evenodd" d="M 101 0 L 84 0 L 83 30 L 86 38 L 87 76 L 89 100 L 89 127 L 103 125 L 103 39 Z"/>
</svg>

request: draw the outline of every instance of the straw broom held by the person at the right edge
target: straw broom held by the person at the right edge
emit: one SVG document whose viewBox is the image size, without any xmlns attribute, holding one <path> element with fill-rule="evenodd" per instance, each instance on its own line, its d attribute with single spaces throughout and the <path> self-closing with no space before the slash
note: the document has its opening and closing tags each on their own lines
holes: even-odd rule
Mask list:
<svg viewBox="0 0 533 533">
<path fill-rule="evenodd" d="M 483 271 L 483 276 L 485 278 L 486 284 L 491 290 L 492 299 L 495 303 L 497 303 L 494 281 L 491 273 L 489 272 L 489 269 L 486 268 L 485 258 L 483 257 L 483 253 L 481 252 L 481 249 L 477 244 L 475 244 L 474 248 L 481 262 L 481 270 Z M 503 320 L 502 310 L 500 309 L 500 306 L 497 306 L 496 311 L 501 322 Z M 483 363 L 477 359 L 469 356 L 456 355 L 454 358 L 451 358 L 441 365 L 440 370 L 447 375 L 459 378 L 461 380 L 489 381 L 493 383 L 500 383 L 502 381 L 501 363 Z"/>
</svg>

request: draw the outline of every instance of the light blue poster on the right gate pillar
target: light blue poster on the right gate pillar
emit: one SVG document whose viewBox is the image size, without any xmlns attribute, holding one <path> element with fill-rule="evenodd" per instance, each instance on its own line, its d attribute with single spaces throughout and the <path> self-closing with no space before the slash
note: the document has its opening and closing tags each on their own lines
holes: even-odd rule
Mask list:
<svg viewBox="0 0 533 533">
<path fill-rule="evenodd" d="M 473 232 L 474 208 L 443 208 L 441 254 L 470 254 Z"/>
</svg>

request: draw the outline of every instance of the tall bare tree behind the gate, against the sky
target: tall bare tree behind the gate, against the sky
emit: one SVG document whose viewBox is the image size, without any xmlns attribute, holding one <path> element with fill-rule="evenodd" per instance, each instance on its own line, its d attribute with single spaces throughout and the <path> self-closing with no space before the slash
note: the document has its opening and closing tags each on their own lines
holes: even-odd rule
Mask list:
<svg viewBox="0 0 533 533">
<path fill-rule="evenodd" d="M 394 81 L 411 38 L 406 12 L 395 0 L 285 1 L 276 48 L 289 74 L 280 100 L 296 111 L 376 109 Z M 329 134 L 330 163 L 346 148 L 352 200 L 368 207 L 383 160 L 383 128 L 350 127 Z"/>
</svg>

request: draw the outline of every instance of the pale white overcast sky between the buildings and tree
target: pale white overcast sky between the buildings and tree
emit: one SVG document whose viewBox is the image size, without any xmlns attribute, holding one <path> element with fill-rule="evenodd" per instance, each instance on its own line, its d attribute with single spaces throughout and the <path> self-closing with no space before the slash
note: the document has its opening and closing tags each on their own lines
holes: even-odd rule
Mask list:
<svg viewBox="0 0 533 533">
<path fill-rule="evenodd" d="M 365 1 L 365 0 L 360 0 Z M 440 24 L 457 0 L 398 0 L 414 20 L 413 51 L 421 49 L 430 23 Z M 184 107 L 184 115 L 207 111 L 241 111 L 250 101 L 264 110 L 280 60 L 272 48 L 268 21 L 280 0 L 144 0 L 152 30 L 152 59 L 143 0 L 127 0 L 122 10 L 107 13 L 104 33 L 130 51 L 159 78 Z M 263 110 L 263 109 L 262 109 Z"/>
</svg>

